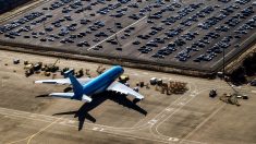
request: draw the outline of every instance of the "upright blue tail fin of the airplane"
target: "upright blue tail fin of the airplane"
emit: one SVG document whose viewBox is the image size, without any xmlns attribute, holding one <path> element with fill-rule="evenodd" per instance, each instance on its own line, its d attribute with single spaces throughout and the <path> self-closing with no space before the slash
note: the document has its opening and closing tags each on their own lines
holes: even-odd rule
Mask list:
<svg viewBox="0 0 256 144">
<path fill-rule="evenodd" d="M 74 99 L 81 100 L 83 96 L 83 85 L 77 81 L 77 79 L 73 74 L 69 74 L 69 79 L 71 84 L 73 85 L 74 91 Z"/>
</svg>

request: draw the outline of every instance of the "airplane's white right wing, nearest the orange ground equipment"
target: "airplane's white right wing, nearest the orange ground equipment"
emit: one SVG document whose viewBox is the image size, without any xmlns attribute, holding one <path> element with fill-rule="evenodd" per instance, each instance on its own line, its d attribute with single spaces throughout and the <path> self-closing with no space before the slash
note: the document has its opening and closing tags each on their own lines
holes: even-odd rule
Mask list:
<svg viewBox="0 0 256 144">
<path fill-rule="evenodd" d="M 144 96 L 138 94 L 137 92 L 133 91 L 132 88 L 127 87 L 124 84 L 121 84 L 119 82 L 113 82 L 111 85 L 109 85 L 109 87 L 107 88 L 108 91 L 114 91 L 114 92 L 119 92 L 125 95 L 132 95 L 137 99 L 143 99 Z"/>
</svg>

